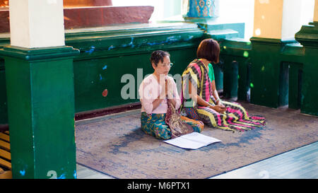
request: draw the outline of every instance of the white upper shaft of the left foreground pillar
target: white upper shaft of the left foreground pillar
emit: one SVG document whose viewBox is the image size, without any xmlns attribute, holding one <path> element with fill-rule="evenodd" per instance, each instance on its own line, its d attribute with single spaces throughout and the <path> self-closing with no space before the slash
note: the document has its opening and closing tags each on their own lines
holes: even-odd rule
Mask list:
<svg viewBox="0 0 318 193">
<path fill-rule="evenodd" d="M 63 0 L 10 0 L 9 6 L 11 45 L 65 45 Z"/>
</svg>

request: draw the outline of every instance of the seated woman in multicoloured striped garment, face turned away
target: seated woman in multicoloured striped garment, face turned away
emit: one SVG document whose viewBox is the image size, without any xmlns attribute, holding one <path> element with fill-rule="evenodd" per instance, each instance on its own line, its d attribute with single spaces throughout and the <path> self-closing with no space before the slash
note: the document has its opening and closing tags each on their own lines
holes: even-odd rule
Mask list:
<svg viewBox="0 0 318 193">
<path fill-rule="evenodd" d="M 230 131 L 244 131 L 264 125 L 264 117 L 249 116 L 239 103 L 220 100 L 211 64 L 218 63 L 219 54 L 220 46 L 216 40 L 203 40 L 196 52 L 198 59 L 194 59 L 184 70 L 182 103 L 187 117 L 201 120 L 208 127 Z"/>
</svg>

